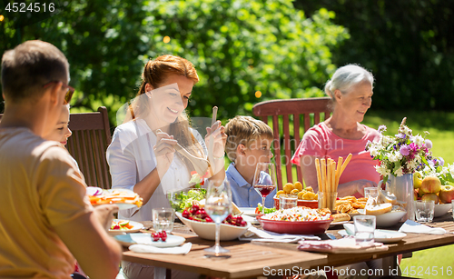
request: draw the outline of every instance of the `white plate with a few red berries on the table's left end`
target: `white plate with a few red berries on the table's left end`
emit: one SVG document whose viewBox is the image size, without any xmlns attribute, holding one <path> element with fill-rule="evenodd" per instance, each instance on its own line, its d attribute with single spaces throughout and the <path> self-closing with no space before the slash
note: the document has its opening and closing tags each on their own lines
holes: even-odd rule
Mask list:
<svg viewBox="0 0 454 279">
<path fill-rule="evenodd" d="M 114 238 L 120 244 L 129 246 L 132 244 L 145 244 L 152 245 L 154 247 L 173 247 L 183 244 L 185 239 L 179 235 L 167 234 L 167 239 L 162 241 L 153 241 L 152 234 L 119 234 L 115 235 Z"/>
</svg>

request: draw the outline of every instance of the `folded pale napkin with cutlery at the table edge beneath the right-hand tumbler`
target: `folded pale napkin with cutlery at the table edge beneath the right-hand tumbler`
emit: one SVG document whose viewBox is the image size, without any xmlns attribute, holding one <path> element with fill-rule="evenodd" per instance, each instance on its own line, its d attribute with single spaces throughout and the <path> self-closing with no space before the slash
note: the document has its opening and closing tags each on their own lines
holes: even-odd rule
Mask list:
<svg viewBox="0 0 454 279">
<path fill-rule="evenodd" d="M 312 240 L 301 240 L 299 242 L 300 246 L 298 249 L 302 251 L 313 251 L 313 252 L 322 252 L 322 253 L 370 253 L 377 251 L 386 251 L 388 250 L 387 245 L 382 243 L 372 243 L 372 244 L 356 244 L 356 240 L 353 237 L 345 237 L 336 240 L 322 240 L 322 241 L 312 241 Z"/>
</svg>

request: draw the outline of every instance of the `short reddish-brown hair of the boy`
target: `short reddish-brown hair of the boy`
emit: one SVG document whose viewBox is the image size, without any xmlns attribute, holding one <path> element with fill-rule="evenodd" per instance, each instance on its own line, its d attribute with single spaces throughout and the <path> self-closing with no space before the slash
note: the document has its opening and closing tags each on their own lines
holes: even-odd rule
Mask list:
<svg viewBox="0 0 454 279">
<path fill-rule="evenodd" d="M 272 130 L 263 121 L 251 116 L 235 116 L 225 125 L 225 134 L 228 135 L 225 152 L 232 162 L 236 160 L 236 148 L 239 144 L 248 147 L 259 137 L 272 140 Z"/>
</svg>

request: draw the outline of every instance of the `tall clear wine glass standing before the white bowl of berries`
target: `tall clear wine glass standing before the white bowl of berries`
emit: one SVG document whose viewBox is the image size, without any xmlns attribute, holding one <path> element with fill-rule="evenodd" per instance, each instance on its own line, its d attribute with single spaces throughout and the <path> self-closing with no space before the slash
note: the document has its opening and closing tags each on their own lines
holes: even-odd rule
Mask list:
<svg viewBox="0 0 454 279">
<path fill-rule="evenodd" d="M 218 254 L 229 253 L 219 244 L 219 234 L 222 221 L 232 213 L 232 190 L 228 181 L 208 181 L 205 199 L 205 212 L 216 224 L 214 246 L 205 249 L 206 252 Z"/>
</svg>

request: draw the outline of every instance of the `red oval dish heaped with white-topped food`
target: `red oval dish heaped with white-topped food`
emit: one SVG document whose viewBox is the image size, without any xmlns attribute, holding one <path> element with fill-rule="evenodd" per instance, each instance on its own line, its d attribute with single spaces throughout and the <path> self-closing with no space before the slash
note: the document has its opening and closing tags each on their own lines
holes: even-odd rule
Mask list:
<svg viewBox="0 0 454 279">
<path fill-rule="evenodd" d="M 299 206 L 256 218 L 264 230 L 280 234 L 323 234 L 333 221 L 329 209 Z"/>
</svg>

